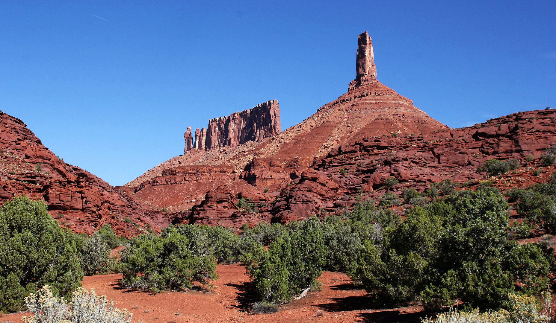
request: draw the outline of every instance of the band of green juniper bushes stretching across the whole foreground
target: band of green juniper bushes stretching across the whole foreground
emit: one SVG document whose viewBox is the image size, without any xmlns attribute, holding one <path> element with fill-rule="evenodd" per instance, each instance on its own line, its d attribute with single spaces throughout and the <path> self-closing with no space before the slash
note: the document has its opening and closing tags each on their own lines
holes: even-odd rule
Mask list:
<svg viewBox="0 0 556 323">
<path fill-rule="evenodd" d="M 6 255 L 0 262 L 2 268 L 11 266 L 0 277 L 2 310 L 22 310 L 25 297 L 45 285 L 52 286 L 52 297 L 75 290 L 83 294 L 78 287 L 84 272 L 121 271 L 123 286 L 160 292 L 209 289 L 217 279 L 217 263 L 242 263 L 258 298 L 253 312 L 273 312 L 294 296 L 319 290 L 317 278 L 330 270 L 346 272 L 376 306 L 420 301 L 437 309 L 460 302 L 465 311 L 436 320 L 484 319 L 477 308 L 509 317 L 504 311 L 511 312 L 511 304 L 526 300 L 524 295 L 535 299 L 546 294 L 554 272 L 552 244 L 520 245 L 514 237 L 529 234 L 534 225 L 552 232 L 555 185 L 552 180 L 505 193 L 527 218 L 520 226 L 510 226 L 508 200 L 498 189 L 484 184 L 457 191 L 446 180 L 423 193 L 404 189 L 400 195 L 386 192 L 378 202 L 358 200 L 341 216 L 244 225 L 240 231 L 170 226 L 160 235 L 151 232 L 126 241 L 118 263 L 110 250 L 122 241 L 110 226 L 90 237 L 72 234 L 59 228 L 43 202 L 22 196 L 0 210 L 0 234 L 8 241 L 0 246 Z M 403 206 L 404 216 L 392 205 Z M 37 276 L 29 275 L 28 263 L 36 264 L 31 272 Z"/>
</svg>

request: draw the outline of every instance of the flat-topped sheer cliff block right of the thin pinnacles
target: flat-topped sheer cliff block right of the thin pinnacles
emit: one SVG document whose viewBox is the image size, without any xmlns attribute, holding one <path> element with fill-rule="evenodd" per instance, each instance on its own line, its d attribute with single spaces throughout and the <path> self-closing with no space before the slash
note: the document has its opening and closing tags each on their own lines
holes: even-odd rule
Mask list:
<svg viewBox="0 0 556 323">
<path fill-rule="evenodd" d="M 236 147 L 280 133 L 280 105 L 270 100 L 256 107 L 209 120 L 206 149 Z"/>
</svg>

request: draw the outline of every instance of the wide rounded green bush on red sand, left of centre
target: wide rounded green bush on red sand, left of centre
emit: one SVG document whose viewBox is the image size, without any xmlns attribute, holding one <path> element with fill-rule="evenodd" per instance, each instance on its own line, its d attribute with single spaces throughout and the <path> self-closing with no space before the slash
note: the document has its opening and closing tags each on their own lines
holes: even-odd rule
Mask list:
<svg viewBox="0 0 556 323">
<path fill-rule="evenodd" d="M 153 292 L 184 290 L 193 287 L 193 282 L 207 286 L 217 277 L 209 247 L 198 249 L 201 243 L 176 228 L 168 228 L 160 236 L 139 235 L 129 244 L 121 256 L 123 286 Z"/>
</svg>

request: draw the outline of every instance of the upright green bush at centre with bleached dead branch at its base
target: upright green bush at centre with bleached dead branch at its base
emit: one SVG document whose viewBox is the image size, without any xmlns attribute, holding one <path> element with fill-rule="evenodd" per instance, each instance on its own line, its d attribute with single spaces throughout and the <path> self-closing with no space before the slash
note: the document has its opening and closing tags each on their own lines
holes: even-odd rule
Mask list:
<svg viewBox="0 0 556 323">
<path fill-rule="evenodd" d="M 289 233 L 247 263 L 261 300 L 286 302 L 311 286 L 326 264 L 321 223 L 316 216 L 287 224 Z"/>
</svg>

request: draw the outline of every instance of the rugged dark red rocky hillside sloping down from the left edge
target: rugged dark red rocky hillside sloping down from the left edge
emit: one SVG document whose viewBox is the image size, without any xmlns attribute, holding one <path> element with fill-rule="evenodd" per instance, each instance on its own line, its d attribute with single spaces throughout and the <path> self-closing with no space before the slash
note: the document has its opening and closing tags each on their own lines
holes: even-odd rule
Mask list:
<svg viewBox="0 0 556 323">
<path fill-rule="evenodd" d="M 145 231 L 147 224 L 158 230 L 171 221 L 165 213 L 143 210 L 123 190 L 88 171 L 64 163 L 26 124 L 3 112 L 0 149 L 0 203 L 22 194 L 42 199 L 62 226 L 78 233 L 90 234 L 109 223 L 118 235 L 129 237 Z"/>
</svg>

